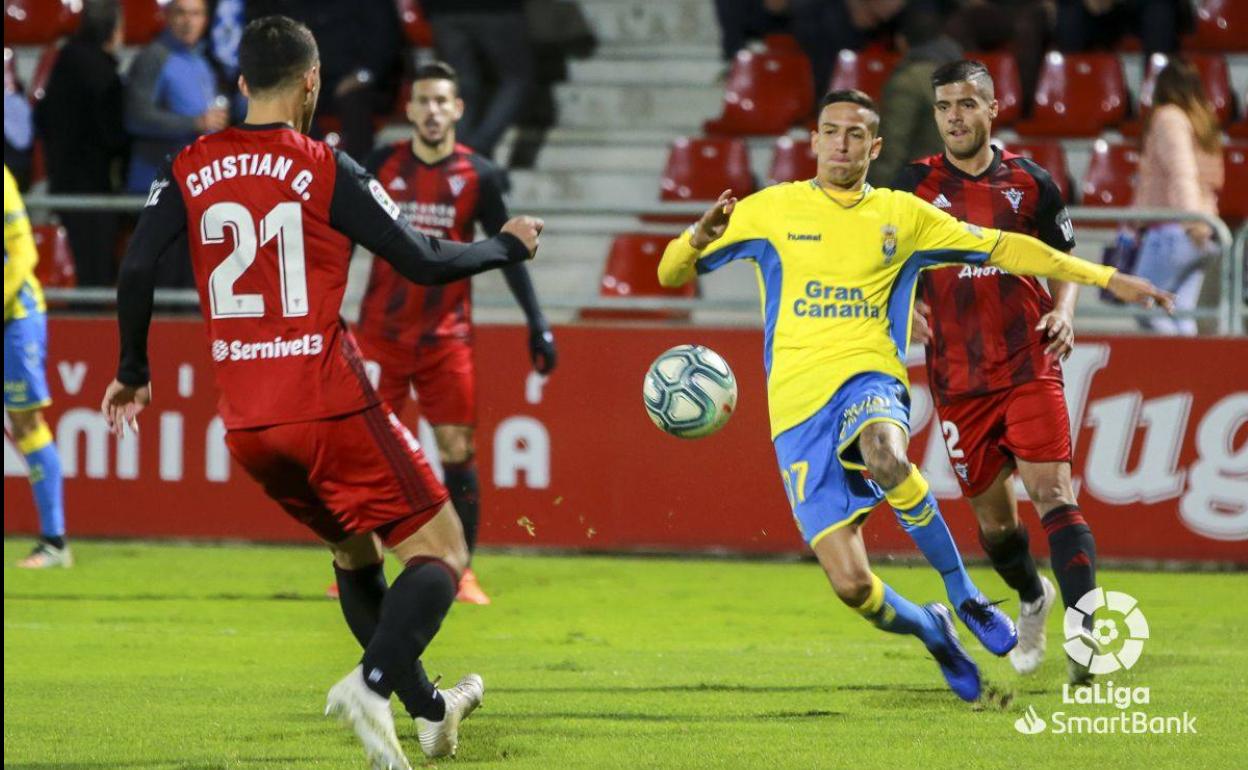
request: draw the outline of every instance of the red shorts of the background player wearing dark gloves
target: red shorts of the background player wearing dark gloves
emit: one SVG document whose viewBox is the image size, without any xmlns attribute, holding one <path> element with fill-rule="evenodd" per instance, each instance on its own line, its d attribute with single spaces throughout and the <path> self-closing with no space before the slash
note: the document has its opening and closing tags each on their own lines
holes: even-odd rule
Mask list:
<svg viewBox="0 0 1248 770">
<path fill-rule="evenodd" d="M 377 394 L 403 414 L 412 388 L 433 426 L 477 424 L 477 369 L 472 343 L 446 339 L 418 348 L 357 337 L 364 358 L 379 367 Z M 371 367 L 369 367 L 371 368 Z"/>
</svg>

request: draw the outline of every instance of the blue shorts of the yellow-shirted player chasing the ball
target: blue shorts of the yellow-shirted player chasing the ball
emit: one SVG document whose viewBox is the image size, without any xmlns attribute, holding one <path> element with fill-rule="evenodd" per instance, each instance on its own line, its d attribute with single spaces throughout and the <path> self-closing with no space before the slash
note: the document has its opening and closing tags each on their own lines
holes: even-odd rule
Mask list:
<svg viewBox="0 0 1248 770">
<path fill-rule="evenodd" d="M 811 547 L 871 513 L 884 489 L 862 475 L 857 437 L 874 422 L 910 433 L 910 392 L 896 378 L 866 372 L 850 378 L 805 422 L 775 438 L 776 459 L 792 515 Z"/>
</svg>

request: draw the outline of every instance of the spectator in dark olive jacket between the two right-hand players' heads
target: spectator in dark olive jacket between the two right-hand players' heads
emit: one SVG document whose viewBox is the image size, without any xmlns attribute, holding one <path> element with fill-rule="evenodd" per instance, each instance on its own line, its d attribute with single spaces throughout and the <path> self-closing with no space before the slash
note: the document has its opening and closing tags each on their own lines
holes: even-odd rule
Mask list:
<svg viewBox="0 0 1248 770">
<path fill-rule="evenodd" d="M 867 181 L 876 187 L 890 187 L 906 163 L 945 149 L 932 120 L 932 72 L 961 59 L 962 49 L 941 32 L 941 15 L 924 5 L 907 10 L 901 19 L 897 50 L 902 56 L 884 84 L 881 100 L 884 147 L 867 171 Z"/>
</svg>

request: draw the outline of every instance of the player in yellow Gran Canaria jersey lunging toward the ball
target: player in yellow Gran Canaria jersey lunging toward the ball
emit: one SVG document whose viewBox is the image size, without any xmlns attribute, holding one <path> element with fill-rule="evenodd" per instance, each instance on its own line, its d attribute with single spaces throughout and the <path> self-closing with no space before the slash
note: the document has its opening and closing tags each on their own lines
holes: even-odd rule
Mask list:
<svg viewBox="0 0 1248 770">
<path fill-rule="evenodd" d="M 882 145 L 879 124 L 865 94 L 825 96 L 811 135 L 817 176 L 741 201 L 725 191 L 668 245 L 659 280 L 679 286 L 736 260 L 754 262 L 771 437 L 802 537 L 842 602 L 886 631 L 919 636 L 950 688 L 975 700 L 978 669 L 961 648 L 948 609 L 919 607 L 885 585 L 871 572 L 860 532 L 867 513 L 887 499 L 985 648 L 1005 655 L 1017 643 L 1010 618 L 971 582 L 927 482 L 906 458 L 905 356 L 919 271 L 992 265 L 1093 283 L 1167 309 L 1173 298 L 1035 238 L 966 225 L 909 193 L 865 185 Z"/>
</svg>

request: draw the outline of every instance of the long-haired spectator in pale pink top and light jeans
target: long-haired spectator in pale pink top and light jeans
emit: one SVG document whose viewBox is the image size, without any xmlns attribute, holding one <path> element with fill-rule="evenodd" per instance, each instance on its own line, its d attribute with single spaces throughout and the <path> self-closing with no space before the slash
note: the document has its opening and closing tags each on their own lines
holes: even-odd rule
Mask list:
<svg viewBox="0 0 1248 770">
<path fill-rule="evenodd" d="M 1201 76 L 1191 65 L 1172 60 L 1157 75 L 1153 109 L 1144 117 L 1136 206 L 1218 216 L 1224 173 L 1222 134 Z M 1141 238 L 1134 272 L 1173 292 L 1176 308 L 1193 309 L 1213 251 L 1212 236 L 1209 226 L 1198 221 L 1153 225 Z M 1167 334 L 1197 332 L 1194 318 L 1163 316 L 1142 324 Z"/>
</svg>

